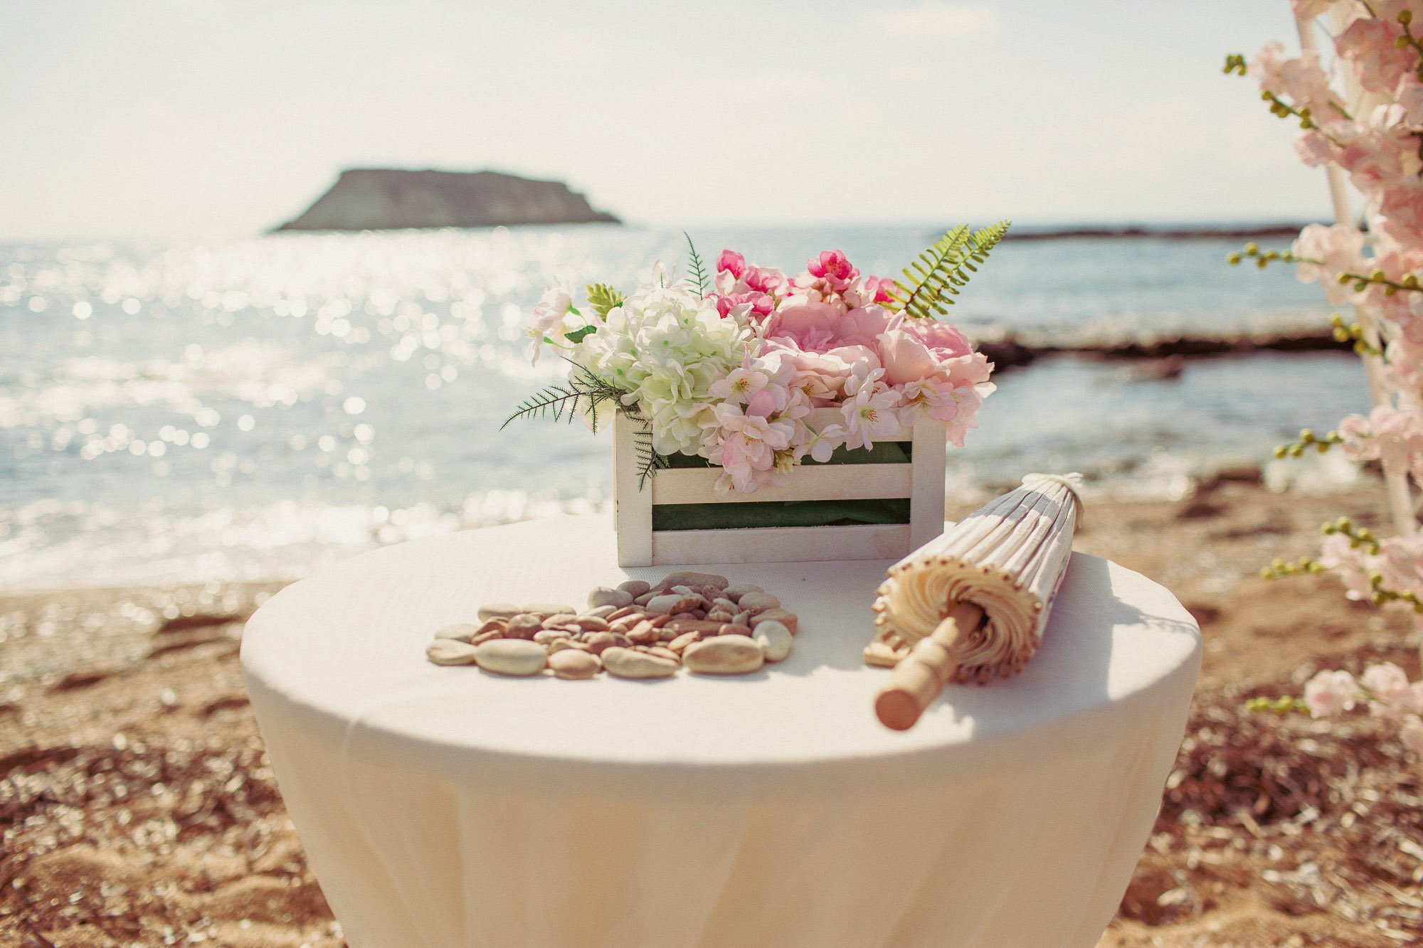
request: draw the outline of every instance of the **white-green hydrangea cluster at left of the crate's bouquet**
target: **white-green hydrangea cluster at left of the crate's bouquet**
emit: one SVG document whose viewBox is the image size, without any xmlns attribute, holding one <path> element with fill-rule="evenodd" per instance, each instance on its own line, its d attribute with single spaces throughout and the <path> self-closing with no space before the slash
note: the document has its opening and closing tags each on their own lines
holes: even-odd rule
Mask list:
<svg viewBox="0 0 1423 948">
<path fill-rule="evenodd" d="M 656 451 L 696 454 L 709 390 L 741 363 L 750 339 L 741 320 L 720 316 L 696 286 L 673 282 L 659 265 L 652 286 L 610 309 L 572 359 L 630 393 L 625 400 L 652 421 Z"/>
</svg>

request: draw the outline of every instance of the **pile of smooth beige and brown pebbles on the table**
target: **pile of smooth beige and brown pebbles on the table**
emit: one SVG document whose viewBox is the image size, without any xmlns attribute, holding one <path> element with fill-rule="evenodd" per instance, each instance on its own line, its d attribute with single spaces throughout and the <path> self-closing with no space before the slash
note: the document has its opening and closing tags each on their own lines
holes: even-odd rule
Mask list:
<svg viewBox="0 0 1423 948">
<path fill-rule="evenodd" d="M 710 572 L 675 572 L 660 582 L 598 586 L 588 608 L 492 602 L 480 622 L 435 632 L 435 665 L 478 665 L 495 675 L 588 679 L 747 675 L 791 652 L 797 619 L 760 586 Z"/>
</svg>

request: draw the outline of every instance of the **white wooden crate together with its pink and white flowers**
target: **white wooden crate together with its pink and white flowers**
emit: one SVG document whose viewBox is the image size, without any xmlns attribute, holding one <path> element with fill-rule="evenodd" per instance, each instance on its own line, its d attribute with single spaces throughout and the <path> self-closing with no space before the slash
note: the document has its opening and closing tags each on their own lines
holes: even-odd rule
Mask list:
<svg viewBox="0 0 1423 948">
<path fill-rule="evenodd" d="M 690 248 L 687 278 L 592 283 L 586 312 L 554 288 L 532 357 L 569 380 L 509 420 L 615 418 L 622 565 L 902 557 L 942 531 L 945 446 L 993 391 L 939 316 L 1006 231 L 952 228 L 904 280 L 840 251 L 794 278 L 723 251 L 710 275 Z"/>
</svg>

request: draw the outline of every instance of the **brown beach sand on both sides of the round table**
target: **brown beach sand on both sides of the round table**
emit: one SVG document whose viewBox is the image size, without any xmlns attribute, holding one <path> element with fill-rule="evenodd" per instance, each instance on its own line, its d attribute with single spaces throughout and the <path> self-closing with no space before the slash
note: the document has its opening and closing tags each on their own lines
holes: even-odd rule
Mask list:
<svg viewBox="0 0 1423 948">
<path fill-rule="evenodd" d="M 1410 616 L 1338 581 L 1268 582 L 1382 491 L 1278 495 L 1249 473 L 1096 502 L 1079 548 L 1171 588 L 1205 666 L 1161 816 L 1100 948 L 1423 938 L 1423 780 L 1387 723 L 1248 715 L 1319 668 L 1419 672 Z M 0 945 L 343 944 L 238 669 L 279 584 L 0 595 Z"/>
</svg>

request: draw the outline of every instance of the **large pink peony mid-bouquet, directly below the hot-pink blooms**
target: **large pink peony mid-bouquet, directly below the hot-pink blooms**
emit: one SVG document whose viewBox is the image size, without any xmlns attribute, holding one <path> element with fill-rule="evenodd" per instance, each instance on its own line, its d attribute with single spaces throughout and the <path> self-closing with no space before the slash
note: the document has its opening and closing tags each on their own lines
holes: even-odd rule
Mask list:
<svg viewBox="0 0 1423 948">
<path fill-rule="evenodd" d="M 889 315 L 878 306 L 864 306 L 848 313 L 828 303 L 783 306 L 761 325 L 767 354 L 788 362 L 801 373 L 811 373 L 832 400 L 855 366 L 879 367 L 878 336 L 889 327 Z"/>
</svg>

